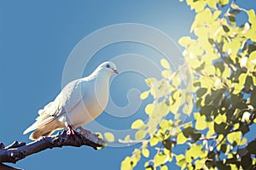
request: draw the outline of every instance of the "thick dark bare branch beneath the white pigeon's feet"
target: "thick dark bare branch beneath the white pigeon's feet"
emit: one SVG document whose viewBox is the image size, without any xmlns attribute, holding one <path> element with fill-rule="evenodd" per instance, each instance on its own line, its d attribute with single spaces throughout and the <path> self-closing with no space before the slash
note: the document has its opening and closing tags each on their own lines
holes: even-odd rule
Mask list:
<svg viewBox="0 0 256 170">
<path fill-rule="evenodd" d="M 3 165 L 3 162 L 15 163 L 20 161 L 26 156 L 30 156 L 34 153 L 38 153 L 42 150 L 52 149 L 55 147 L 62 146 L 75 146 L 80 147 L 82 145 L 88 145 L 93 149 L 97 150 L 97 147 L 102 147 L 105 142 L 98 138 L 94 133 L 89 133 L 86 137 L 80 133 L 76 135 L 68 135 L 67 131 L 58 133 L 54 136 L 43 137 L 32 143 L 19 143 L 15 141 L 7 147 L 4 147 L 3 143 L 0 144 L 0 169 L 11 169 Z M 15 169 L 15 168 L 13 168 Z"/>
</svg>

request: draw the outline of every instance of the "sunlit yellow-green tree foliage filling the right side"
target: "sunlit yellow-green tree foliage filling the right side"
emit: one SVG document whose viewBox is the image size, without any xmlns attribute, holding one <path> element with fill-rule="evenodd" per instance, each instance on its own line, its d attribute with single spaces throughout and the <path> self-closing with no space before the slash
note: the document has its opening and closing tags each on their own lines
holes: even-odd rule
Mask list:
<svg viewBox="0 0 256 170">
<path fill-rule="evenodd" d="M 173 72 L 161 59 L 162 78 L 145 80 L 141 99 L 154 98 L 145 108 L 148 121 L 131 124 L 143 142 L 121 169 L 138 161 L 145 169 L 166 170 L 171 162 L 181 169 L 255 169 L 256 139 L 246 138 L 256 122 L 255 12 L 229 0 L 186 3 L 195 9 L 195 38 L 178 41 L 186 65 Z M 238 26 L 240 13 L 248 20 Z"/>
</svg>

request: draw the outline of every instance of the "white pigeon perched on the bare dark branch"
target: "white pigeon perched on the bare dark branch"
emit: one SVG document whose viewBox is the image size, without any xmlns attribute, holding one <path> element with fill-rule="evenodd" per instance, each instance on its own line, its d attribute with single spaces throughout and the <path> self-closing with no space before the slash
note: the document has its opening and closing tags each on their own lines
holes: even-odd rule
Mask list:
<svg viewBox="0 0 256 170">
<path fill-rule="evenodd" d="M 69 82 L 54 101 L 39 110 L 37 121 L 28 127 L 24 134 L 34 131 L 30 139 L 49 136 L 56 130 L 82 128 L 85 124 L 102 114 L 108 104 L 109 78 L 118 73 L 113 62 L 107 61 L 99 65 L 90 76 Z"/>
</svg>

